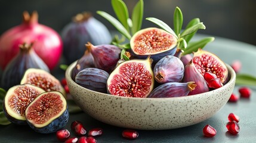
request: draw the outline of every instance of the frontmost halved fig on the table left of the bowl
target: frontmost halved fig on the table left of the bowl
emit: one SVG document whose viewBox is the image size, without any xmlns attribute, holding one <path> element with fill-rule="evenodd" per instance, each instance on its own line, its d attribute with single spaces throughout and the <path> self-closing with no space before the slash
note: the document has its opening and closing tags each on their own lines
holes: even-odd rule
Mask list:
<svg viewBox="0 0 256 143">
<path fill-rule="evenodd" d="M 48 119 L 47 121 L 45 121 L 45 123 L 41 123 L 41 124 L 35 123 L 35 121 L 33 119 L 30 119 L 30 116 L 29 116 L 30 114 L 35 115 L 35 113 L 33 113 L 33 110 L 36 110 L 36 109 L 33 108 L 34 107 L 33 105 L 40 104 L 40 105 L 42 105 L 42 108 L 48 109 L 50 107 L 50 105 L 44 106 L 46 104 L 41 104 L 41 101 L 42 101 L 41 98 L 45 97 L 48 99 L 49 95 L 51 95 L 51 94 L 55 94 L 60 97 L 61 102 L 56 102 L 56 101 L 53 101 L 53 102 L 55 102 L 54 104 L 62 104 L 63 108 L 61 109 L 61 111 L 57 111 L 57 114 L 55 114 L 55 116 L 53 116 L 50 119 Z M 54 108 L 54 107 L 50 107 L 50 108 Z M 45 110 L 45 109 L 42 109 L 42 110 Z M 40 94 L 38 97 L 36 97 L 35 100 L 32 101 L 29 104 L 29 106 L 27 106 L 25 116 L 27 119 L 27 124 L 30 126 L 30 128 L 35 130 L 35 132 L 53 133 L 53 132 L 57 132 L 57 130 L 62 129 L 62 128 L 64 128 L 64 126 L 67 125 L 67 122 L 69 120 L 69 110 L 67 108 L 67 102 L 66 102 L 66 99 L 64 98 L 63 94 L 61 94 L 61 92 L 58 92 L 58 91 L 50 91 L 50 92 L 44 92 L 44 93 Z M 45 117 L 47 117 L 47 114 L 45 114 Z M 35 119 L 35 117 L 34 117 L 34 119 Z"/>
</svg>

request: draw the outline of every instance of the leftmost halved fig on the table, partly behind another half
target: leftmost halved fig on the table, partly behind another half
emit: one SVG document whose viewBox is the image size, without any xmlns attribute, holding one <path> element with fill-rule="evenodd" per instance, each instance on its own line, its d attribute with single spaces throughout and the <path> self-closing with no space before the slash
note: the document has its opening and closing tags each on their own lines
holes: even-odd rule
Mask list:
<svg viewBox="0 0 256 143">
<path fill-rule="evenodd" d="M 26 125 L 25 110 L 27 105 L 43 92 L 45 92 L 44 89 L 30 84 L 11 87 L 3 102 L 3 110 L 7 119 L 17 125 Z"/>
</svg>

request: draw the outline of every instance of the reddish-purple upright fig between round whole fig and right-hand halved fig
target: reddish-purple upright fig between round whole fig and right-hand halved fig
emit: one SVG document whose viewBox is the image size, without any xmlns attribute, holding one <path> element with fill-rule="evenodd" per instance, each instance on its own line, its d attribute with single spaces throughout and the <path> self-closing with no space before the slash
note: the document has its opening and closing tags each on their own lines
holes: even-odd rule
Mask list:
<svg viewBox="0 0 256 143">
<path fill-rule="evenodd" d="M 184 77 L 182 82 L 186 83 L 189 81 L 193 81 L 196 84 L 196 89 L 189 92 L 189 95 L 201 94 L 203 92 L 208 92 L 209 88 L 208 85 L 203 78 L 202 74 L 196 69 L 195 64 L 193 61 L 190 62 L 185 66 Z"/>
</svg>

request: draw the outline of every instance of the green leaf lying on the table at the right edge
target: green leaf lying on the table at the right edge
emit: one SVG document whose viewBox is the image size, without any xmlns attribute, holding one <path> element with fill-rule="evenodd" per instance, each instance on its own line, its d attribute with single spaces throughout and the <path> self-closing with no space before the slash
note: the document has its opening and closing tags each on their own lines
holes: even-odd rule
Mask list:
<svg viewBox="0 0 256 143">
<path fill-rule="evenodd" d="M 256 86 L 256 77 L 249 74 L 236 74 L 236 85 Z"/>
</svg>

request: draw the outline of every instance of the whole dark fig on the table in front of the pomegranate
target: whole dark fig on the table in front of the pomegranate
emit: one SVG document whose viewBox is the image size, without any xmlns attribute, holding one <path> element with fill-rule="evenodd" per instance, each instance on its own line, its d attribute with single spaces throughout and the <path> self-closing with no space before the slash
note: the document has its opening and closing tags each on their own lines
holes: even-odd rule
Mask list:
<svg viewBox="0 0 256 143">
<path fill-rule="evenodd" d="M 20 52 L 8 63 L 1 80 L 1 87 L 8 90 L 19 85 L 25 71 L 29 68 L 50 71 L 44 61 L 36 54 L 33 43 L 19 45 Z"/>
</svg>

